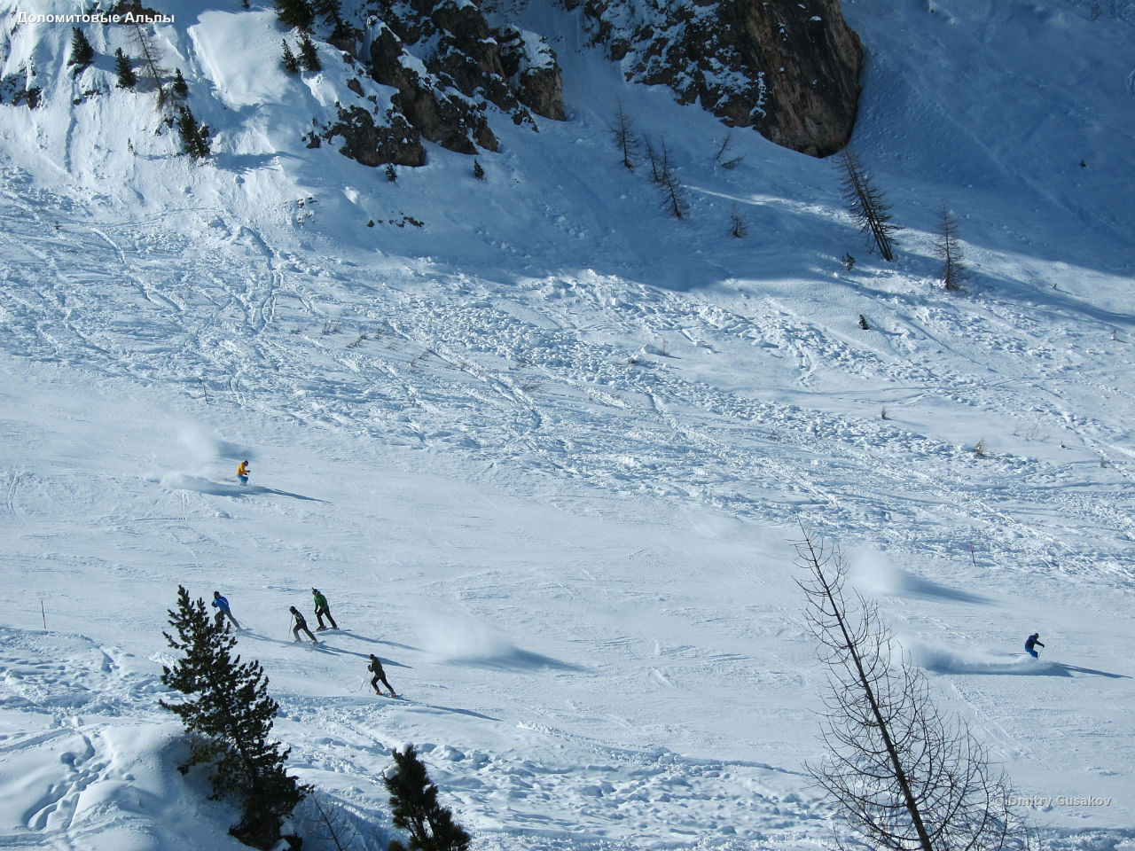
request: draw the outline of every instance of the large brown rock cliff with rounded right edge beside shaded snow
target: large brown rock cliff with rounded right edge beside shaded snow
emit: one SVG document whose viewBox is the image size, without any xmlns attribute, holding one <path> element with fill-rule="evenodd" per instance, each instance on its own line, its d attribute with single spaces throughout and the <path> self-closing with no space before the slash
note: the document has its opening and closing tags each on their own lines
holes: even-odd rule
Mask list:
<svg viewBox="0 0 1135 851">
<path fill-rule="evenodd" d="M 839 0 L 586 0 L 582 14 L 628 79 L 813 157 L 851 135 L 863 47 Z"/>
</svg>

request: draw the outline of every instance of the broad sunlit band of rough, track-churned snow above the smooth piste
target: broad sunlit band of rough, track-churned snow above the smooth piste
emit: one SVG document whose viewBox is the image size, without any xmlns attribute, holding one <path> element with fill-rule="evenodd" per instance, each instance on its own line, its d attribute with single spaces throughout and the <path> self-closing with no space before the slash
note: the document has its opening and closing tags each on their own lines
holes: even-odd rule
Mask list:
<svg viewBox="0 0 1135 851">
<path fill-rule="evenodd" d="M 1012 561 L 1029 570 L 1088 574 L 1103 566 L 1132 581 L 1124 540 L 1109 547 L 1095 531 L 1101 524 L 1132 530 L 1130 504 L 1116 506 L 1111 498 L 1127 481 L 1126 461 L 1109 449 L 1115 438 L 1098 437 L 1115 427 L 1077 421 L 1061 402 L 1108 388 L 1058 360 L 1056 349 L 1037 351 L 1019 330 L 1029 327 L 1028 319 L 1006 315 L 1009 305 L 990 297 L 975 300 L 965 328 L 956 313 L 933 303 L 893 319 L 901 323 L 892 334 L 897 346 L 907 339 L 949 355 L 950 340 L 965 339 L 967 347 L 987 352 L 999 361 L 998 372 L 978 380 L 975 373 L 984 368 L 969 355 L 939 359 L 931 373 L 898 348 L 884 359 L 841 345 L 773 302 L 743 315 L 697 295 L 619 279 L 553 279 L 516 287 L 523 310 L 508 311 L 494 304 L 489 284 L 463 281 L 472 290 L 464 303 L 431 297 L 434 287 L 453 285 L 443 278 L 411 296 L 380 284 L 352 285 L 337 289 L 334 312 L 327 312 L 316 305 L 327 302 L 325 293 L 337 287 L 342 272 L 314 262 L 289 269 L 287 261 L 266 264 L 259 252 L 233 255 L 222 250 L 228 246 L 201 242 L 187 261 L 188 244 L 162 235 L 158 224 L 131 225 L 115 235 L 103 226 L 84 237 L 79 222 L 60 216 L 69 251 L 84 258 L 83 267 L 61 270 L 53 259 L 60 239 L 51 230 L 28 233 L 22 218 L 3 218 L 25 258 L 9 256 L 7 273 L 45 277 L 50 285 L 47 297 L 34 302 L 8 292 L 14 352 L 39 360 L 82 352 L 86 369 L 182 384 L 188 395 L 208 395 L 210 404 L 319 421 L 431 453 L 455 448 L 616 491 L 637 491 L 645 480 L 661 497 L 695 497 L 755 520 L 783 522 L 787 513 L 808 511 L 833 537 L 866 522 L 891 546 L 943 554 L 964 551 L 977 537 L 991 558 L 1011 547 Z M 136 247 L 126 251 L 124 244 Z M 409 289 L 413 281 L 401 284 Z M 124 302 L 124 289 L 137 297 Z M 550 298 L 556 306 L 548 310 Z M 557 315 L 561 328 L 539 328 L 519 315 L 541 311 Z M 681 340 L 690 337 L 728 345 L 723 356 L 742 369 L 742 359 L 770 352 L 806 394 L 833 403 L 867 393 L 874 398 L 864 401 L 860 419 L 850 419 L 785 404 L 779 390 L 717 389 L 683 374 L 692 355 Z M 632 340 L 663 354 L 639 352 Z M 665 352 L 667 345 L 674 354 Z M 819 386 L 832 371 L 855 377 L 865 390 Z M 1069 461 L 994 450 L 977 462 L 945 436 L 878 419 L 889 398 L 897 398 L 896 406 L 918 398 L 998 415 L 1006 428 L 1043 431 L 1050 446 L 1060 436 Z M 289 402 L 271 407 L 276 399 Z M 578 415 L 581 410 L 587 416 Z M 624 443 L 608 437 L 620 433 Z M 972 445 L 994 436 L 965 437 Z M 907 454 L 917 461 L 885 463 Z M 829 461 L 812 471 L 810 455 Z M 1091 477 L 1094 485 L 1046 487 L 1066 478 L 1069 465 L 1082 474 L 1093 457 L 1110 464 Z M 832 475 L 832 463 L 841 474 Z M 841 485 L 833 486 L 833 478 Z M 1093 487 L 1109 499 L 1096 499 Z M 918 496 L 927 490 L 935 497 L 930 512 Z M 897 499 L 902 494 L 913 498 Z M 953 508 L 943 513 L 943 506 Z M 896 512 L 908 522 L 878 522 Z M 1029 514 L 1043 520 L 1029 521 Z M 1051 532 L 1052 517 L 1067 521 L 1059 536 Z M 1054 542 L 1070 536 L 1083 546 Z"/>
</svg>

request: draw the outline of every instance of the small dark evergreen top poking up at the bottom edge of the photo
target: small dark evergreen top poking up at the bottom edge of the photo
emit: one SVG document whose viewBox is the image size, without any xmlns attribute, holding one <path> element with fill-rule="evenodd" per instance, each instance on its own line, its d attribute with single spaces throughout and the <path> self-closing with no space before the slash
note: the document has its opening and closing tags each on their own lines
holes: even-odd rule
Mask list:
<svg viewBox="0 0 1135 851">
<path fill-rule="evenodd" d="M 394 826 L 410 831 L 409 851 L 465 851 L 470 836 L 453 820 L 448 807 L 437 802 L 437 786 L 430 783 L 426 766 L 418 758 L 414 747 L 394 751 L 397 772 L 386 777 L 390 793 Z M 395 840 L 389 851 L 406 851 L 406 845 Z"/>
</svg>

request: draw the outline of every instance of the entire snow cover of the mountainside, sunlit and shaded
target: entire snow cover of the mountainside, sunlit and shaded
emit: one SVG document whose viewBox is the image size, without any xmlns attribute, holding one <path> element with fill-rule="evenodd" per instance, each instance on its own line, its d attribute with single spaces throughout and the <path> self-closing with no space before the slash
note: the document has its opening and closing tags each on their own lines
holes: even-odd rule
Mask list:
<svg viewBox="0 0 1135 851">
<path fill-rule="evenodd" d="M 364 102 L 334 49 L 288 77 L 269 9 L 148 6 L 205 165 L 114 87 L 124 33 L 77 78 L 69 26 L 0 36 L 45 99 L 0 104 L 0 848 L 239 848 L 157 703 L 178 583 L 228 597 L 292 769 L 361 845 L 396 835 L 412 742 L 479 850 L 832 846 L 800 523 L 1048 848 L 1135 846 L 1127 6 L 844 2 L 893 264 L 830 162 L 733 130 L 722 169 L 723 126 L 574 24 L 568 121 L 490 116 L 485 182 L 430 146 L 389 184 L 301 138 Z M 616 99 L 688 220 L 622 168 Z M 934 281 L 943 202 L 964 295 Z M 312 587 L 318 647 L 287 614 L 316 625 Z M 371 652 L 403 699 L 368 693 Z"/>
</svg>

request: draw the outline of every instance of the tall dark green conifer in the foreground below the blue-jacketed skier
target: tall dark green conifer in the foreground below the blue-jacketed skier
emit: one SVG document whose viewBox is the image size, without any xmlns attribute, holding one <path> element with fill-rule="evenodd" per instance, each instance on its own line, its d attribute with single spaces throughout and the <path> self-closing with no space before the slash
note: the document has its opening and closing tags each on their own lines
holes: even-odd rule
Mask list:
<svg viewBox="0 0 1135 851">
<path fill-rule="evenodd" d="M 183 117 L 188 115 L 184 107 Z M 192 116 L 191 116 L 192 118 Z M 242 819 L 229 833 L 245 844 L 269 849 L 280 840 L 280 823 L 308 792 L 284 770 L 288 750 L 270 741 L 278 705 L 268 696 L 268 679 L 258 662 L 233 656 L 236 639 L 218 612 L 210 620 L 204 600 L 190 600 L 177 589 L 177 610 L 170 610 L 175 635 L 162 633 L 183 654 L 173 667 L 162 666 L 161 681 L 190 699 L 159 701 L 195 734 L 194 749 L 180 767 L 212 766 L 213 798 L 235 797 Z"/>
</svg>

